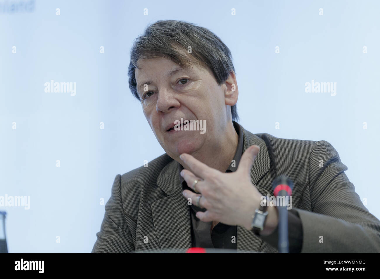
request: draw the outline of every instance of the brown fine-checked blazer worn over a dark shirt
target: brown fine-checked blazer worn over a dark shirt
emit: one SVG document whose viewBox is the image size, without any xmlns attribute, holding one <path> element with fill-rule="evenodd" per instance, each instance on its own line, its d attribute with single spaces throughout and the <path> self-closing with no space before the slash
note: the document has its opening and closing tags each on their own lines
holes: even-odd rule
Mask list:
<svg viewBox="0 0 380 279">
<path fill-rule="evenodd" d="M 260 146 L 251 180 L 262 195 L 273 195 L 278 175 L 293 180 L 290 211 L 296 210 L 302 222 L 301 252 L 380 252 L 380 221 L 361 202 L 330 143 L 242 131 L 243 151 Z M 191 247 L 190 206 L 178 164 L 167 154 L 116 175 L 111 193 L 92 252 Z M 236 244 L 238 251 L 278 252 L 241 226 Z"/>
</svg>

